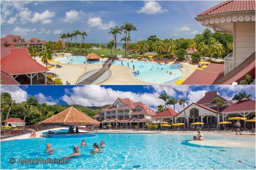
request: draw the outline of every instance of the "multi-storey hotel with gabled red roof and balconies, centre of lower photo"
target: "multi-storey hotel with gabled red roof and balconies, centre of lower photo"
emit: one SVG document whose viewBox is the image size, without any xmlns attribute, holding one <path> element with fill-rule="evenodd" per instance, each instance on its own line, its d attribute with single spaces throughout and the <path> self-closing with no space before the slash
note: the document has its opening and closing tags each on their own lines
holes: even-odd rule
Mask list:
<svg viewBox="0 0 256 170">
<path fill-rule="evenodd" d="M 147 123 L 151 123 L 151 117 L 156 113 L 153 109 L 141 102 L 134 102 L 129 98 L 117 98 L 115 103 L 100 110 L 94 115 L 95 120 L 105 125 L 115 126 L 115 128 L 132 128 L 137 125 L 143 128 Z"/>
</svg>

